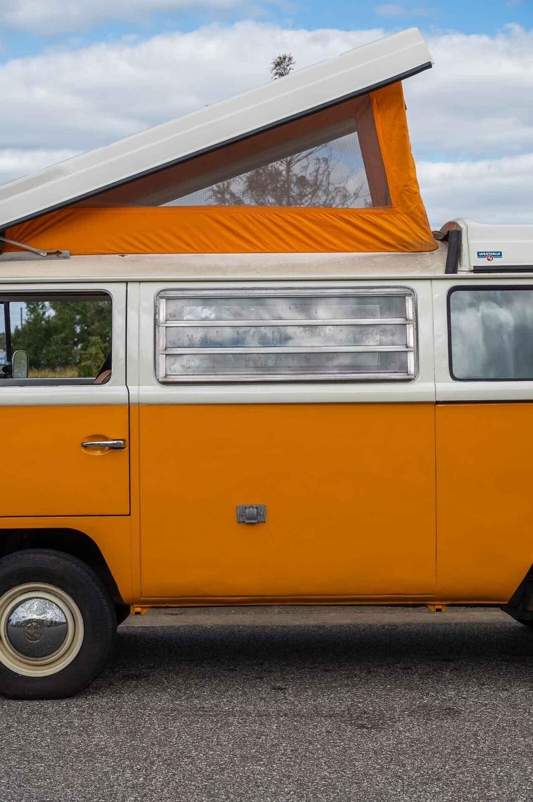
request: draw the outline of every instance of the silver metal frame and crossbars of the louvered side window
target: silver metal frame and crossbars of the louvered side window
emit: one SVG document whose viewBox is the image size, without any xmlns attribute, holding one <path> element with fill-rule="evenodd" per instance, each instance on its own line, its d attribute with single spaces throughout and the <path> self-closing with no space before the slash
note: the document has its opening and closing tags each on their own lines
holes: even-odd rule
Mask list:
<svg viewBox="0 0 533 802">
<path fill-rule="evenodd" d="M 291 319 L 289 321 L 269 319 L 248 320 L 247 318 L 232 320 L 194 320 L 169 321 L 167 320 L 168 298 L 338 298 L 384 296 L 403 297 L 406 299 L 405 318 L 308 318 Z M 167 348 L 166 330 L 172 327 L 195 328 L 199 326 L 360 326 L 360 325 L 403 325 L 406 326 L 406 346 L 240 346 L 240 347 L 212 347 L 212 348 Z M 199 374 L 199 375 L 168 375 L 166 357 L 169 354 L 312 354 L 312 353 L 372 353 L 381 352 L 407 354 L 406 373 L 277 373 L 274 375 L 235 375 L 235 374 Z M 155 295 L 155 376 L 158 383 L 163 385 L 176 384 L 220 384 L 220 383 L 312 383 L 312 382 L 411 382 L 418 376 L 418 336 L 417 336 L 417 309 L 414 290 L 405 286 L 395 287 L 329 287 L 313 289 L 289 289 L 278 287 L 247 287 L 236 289 L 195 289 L 195 290 L 159 290 Z"/>
</svg>

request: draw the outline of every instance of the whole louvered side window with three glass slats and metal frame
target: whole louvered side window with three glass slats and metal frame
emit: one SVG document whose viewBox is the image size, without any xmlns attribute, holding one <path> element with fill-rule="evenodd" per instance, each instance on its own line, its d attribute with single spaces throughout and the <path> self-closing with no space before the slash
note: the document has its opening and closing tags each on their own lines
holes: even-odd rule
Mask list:
<svg viewBox="0 0 533 802">
<path fill-rule="evenodd" d="M 414 294 L 168 290 L 156 310 L 159 382 L 394 381 L 417 372 Z"/>
</svg>

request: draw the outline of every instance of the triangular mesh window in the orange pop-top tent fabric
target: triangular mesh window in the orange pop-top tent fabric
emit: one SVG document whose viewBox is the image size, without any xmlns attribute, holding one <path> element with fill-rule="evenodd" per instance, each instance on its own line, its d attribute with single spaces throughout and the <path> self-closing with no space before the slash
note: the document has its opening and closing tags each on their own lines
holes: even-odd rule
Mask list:
<svg viewBox="0 0 533 802">
<path fill-rule="evenodd" d="M 162 168 L 81 206 L 390 206 L 368 95 Z"/>
</svg>

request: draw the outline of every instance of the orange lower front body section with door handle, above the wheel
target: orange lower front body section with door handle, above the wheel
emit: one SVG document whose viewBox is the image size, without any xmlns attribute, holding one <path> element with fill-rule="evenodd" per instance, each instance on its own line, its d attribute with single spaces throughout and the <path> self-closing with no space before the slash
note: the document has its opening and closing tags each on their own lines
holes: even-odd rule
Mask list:
<svg viewBox="0 0 533 802">
<path fill-rule="evenodd" d="M 93 453 L 94 435 L 125 439 L 123 405 L 0 407 L 0 542 L 10 529 L 72 529 L 99 547 L 132 601 L 129 448 Z"/>
</svg>

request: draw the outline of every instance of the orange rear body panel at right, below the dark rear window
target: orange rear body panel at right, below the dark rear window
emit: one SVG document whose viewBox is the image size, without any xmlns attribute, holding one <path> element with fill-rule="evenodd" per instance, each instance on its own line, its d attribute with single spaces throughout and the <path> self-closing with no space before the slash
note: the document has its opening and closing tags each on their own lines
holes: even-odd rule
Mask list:
<svg viewBox="0 0 533 802">
<path fill-rule="evenodd" d="M 533 404 L 437 407 L 438 597 L 505 603 L 533 564 Z"/>
</svg>

